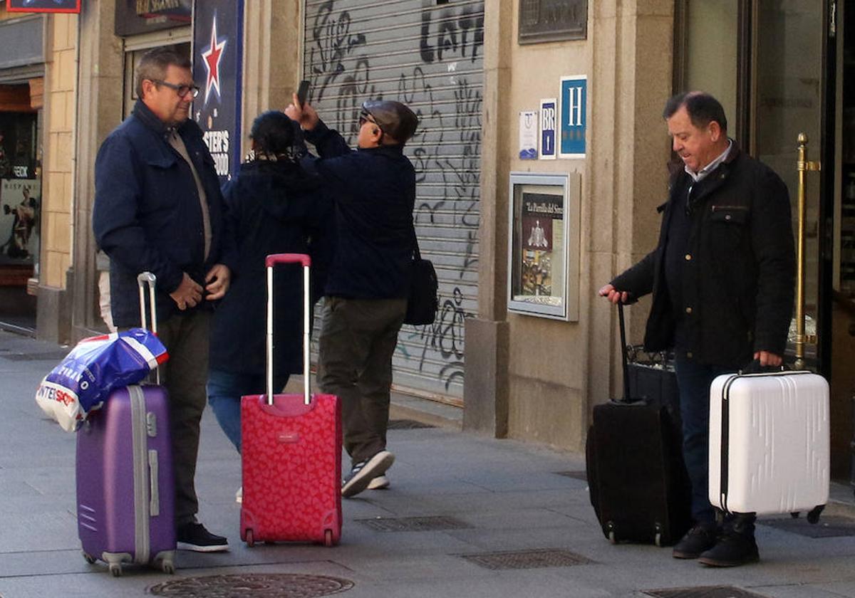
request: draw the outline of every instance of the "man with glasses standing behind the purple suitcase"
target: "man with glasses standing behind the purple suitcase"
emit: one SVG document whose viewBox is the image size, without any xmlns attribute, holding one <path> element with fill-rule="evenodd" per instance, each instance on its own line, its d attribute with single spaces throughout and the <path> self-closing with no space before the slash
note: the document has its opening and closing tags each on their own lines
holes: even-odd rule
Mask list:
<svg viewBox="0 0 855 598">
<path fill-rule="evenodd" d="M 233 248 L 225 246 L 214 161 L 188 118 L 199 91 L 190 66 L 168 48 L 142 57 L 133 114 L 98 150 L 92 226 L 110 259 L 116 326 L 140 324 L 137 275 L 157 277 L 157 331 L 169 352 L 161 379 L 169 393 L 178 548 L 212 552 L 228 542 L 198 523 L 194 478 L 210 302 L 228 290 Z"/>
</svg>

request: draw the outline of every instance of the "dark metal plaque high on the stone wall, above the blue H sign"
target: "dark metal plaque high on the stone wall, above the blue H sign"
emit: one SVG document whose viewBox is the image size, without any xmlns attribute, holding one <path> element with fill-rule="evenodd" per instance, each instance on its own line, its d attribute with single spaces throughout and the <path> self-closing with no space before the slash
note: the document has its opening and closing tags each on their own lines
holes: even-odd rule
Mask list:
<svg viewBox="0 0 855 598">
<path fill-rule="evenodd" d="M 587 0 L 520 0 L 520 44 L 587 38 Z"/>
</svg>

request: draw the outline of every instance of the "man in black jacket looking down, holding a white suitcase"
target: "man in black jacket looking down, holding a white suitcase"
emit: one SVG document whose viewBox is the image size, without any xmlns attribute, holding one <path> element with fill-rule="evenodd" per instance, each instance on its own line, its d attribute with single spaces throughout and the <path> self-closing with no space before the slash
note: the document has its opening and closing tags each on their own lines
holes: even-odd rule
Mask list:
<svg viewBox="0 0 855 598">
<path fill-rule="evenodd" d="M 721 103 L 693 91 L 663 117 L 673 169 L 657 248 L 599 290 L 610 302 L 652 292 L 645 348 L 673 348 L 695 525 L 678 559 L 709 566 L 758 560 L 754 516 L 722 528 L 708 498 L 710 385 L 752 359 L 779 366 L 793 314 L 795 260 L 787 187 L 727 136 Z"/>
</svg>

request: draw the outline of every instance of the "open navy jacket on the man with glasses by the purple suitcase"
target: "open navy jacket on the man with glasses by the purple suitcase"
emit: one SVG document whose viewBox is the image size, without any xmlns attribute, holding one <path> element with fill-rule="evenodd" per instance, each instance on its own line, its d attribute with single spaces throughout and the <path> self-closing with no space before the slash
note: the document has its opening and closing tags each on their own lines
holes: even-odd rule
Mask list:
<svg viewBox="0 0 855 598">
<path fill-rule="evenodd" d="M 167 141 L 168 130 L 144 103 L 104 140 L 95 161 L 92 228 L 110 258 L 110 299 L 115 325 L 139 325 L 137 275 L 157 277 L 157 319 L 180 314 L 168 295 L 183 273 L 204 286 L 211 266 L 232 267 L 223 245 L 223 203 L 214 161 L 192 120 L 177 132 L 184 140 L 207 196 L 211 245 L 204 259 L 202 208 L 190 166 Z M 196 309 L 209 308 L 201 302 Z"/>
</svg>

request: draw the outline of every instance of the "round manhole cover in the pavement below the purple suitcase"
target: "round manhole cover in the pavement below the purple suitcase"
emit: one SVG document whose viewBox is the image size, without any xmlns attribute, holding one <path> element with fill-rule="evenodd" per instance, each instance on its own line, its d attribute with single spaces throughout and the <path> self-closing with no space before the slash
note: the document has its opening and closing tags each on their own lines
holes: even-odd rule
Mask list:
<svg viewBox="0 0 855 598">
<path fill-rule="evenodd" d="M 158 583 L 149 589 L 156 596 L 181 598 L 313 598 L 339 594 L 353 587 L 348 579 L 295 573 L 246 573 L 185 577 Z"/>
</svg>

